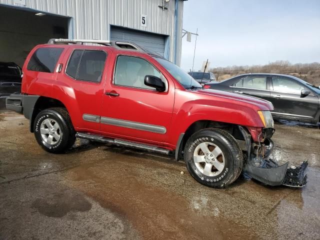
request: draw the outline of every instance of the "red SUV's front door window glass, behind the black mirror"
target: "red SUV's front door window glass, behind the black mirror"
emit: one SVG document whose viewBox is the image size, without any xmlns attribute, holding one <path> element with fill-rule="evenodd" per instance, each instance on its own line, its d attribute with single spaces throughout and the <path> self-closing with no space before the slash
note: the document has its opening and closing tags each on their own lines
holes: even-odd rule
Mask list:
<svg viewBox="0 0 320 240">
<path fill-rule="evenodd" d="M 114 72 L 114 84 L 154 89 L 144 84 L 145 75 L 160 77 L 160 72 L 148 61 L 134 56 L 118 56 Z"/>
</svg>

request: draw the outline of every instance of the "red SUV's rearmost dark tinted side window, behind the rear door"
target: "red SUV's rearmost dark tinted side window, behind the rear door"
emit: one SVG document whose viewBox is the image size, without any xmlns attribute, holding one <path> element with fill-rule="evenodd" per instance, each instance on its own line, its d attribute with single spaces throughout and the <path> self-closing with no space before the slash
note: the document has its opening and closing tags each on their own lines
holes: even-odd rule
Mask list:
<svg viewBox="0 0 320 240">
<path fill-rule="evenodd" d="M 26 69 L 30 71 L 53 72 L 63 48 L 41 47 L 31 56 Z"/>
</svg>

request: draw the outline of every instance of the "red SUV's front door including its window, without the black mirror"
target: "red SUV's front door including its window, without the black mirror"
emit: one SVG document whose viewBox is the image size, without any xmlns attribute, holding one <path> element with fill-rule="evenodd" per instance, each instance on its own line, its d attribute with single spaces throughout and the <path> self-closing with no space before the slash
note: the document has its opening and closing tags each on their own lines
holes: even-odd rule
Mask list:
<svg viewBox="0 0 320 240">
<path fill-rule="evenodd" d="M 174 103 L 174 85 L 165 79 L 150 57 L 118 55 L 114 73 L 106 82 L 102 102 L 101 130 L 114 137 L 162 143 L 165 141 Z M 160 77 L 164 92 L 144 84 L 145 75 Z"/>
</svg>

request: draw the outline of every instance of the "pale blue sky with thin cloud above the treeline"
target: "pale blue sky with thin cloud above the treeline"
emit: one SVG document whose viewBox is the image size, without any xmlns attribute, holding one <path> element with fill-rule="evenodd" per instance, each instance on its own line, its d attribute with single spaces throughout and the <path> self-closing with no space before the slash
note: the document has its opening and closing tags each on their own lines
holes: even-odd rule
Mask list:
<svg viewBox="0 0 320 240">
<path fill-rule="evenodd" d="M 194 70 L 207 58 L 210 67 L 320 62 L 320 0 L 187 0 L 183 28 L 198 28 Z M 194 42 L 182 39 L 185 70 Z"/>
</svg>

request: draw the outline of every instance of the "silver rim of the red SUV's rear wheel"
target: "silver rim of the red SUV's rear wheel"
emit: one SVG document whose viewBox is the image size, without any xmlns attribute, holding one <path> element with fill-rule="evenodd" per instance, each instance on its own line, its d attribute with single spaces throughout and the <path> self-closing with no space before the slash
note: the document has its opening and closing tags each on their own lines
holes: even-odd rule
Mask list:
<svg viewBox="0 0 320 240">
<path fill-rule="evenodd" d="M 40 133 L 42 140 L 50 145 L 56 144 L 61 137 L 59 124 L 51 118 L 46 118 L 41 122 Z"/>
</svg>

